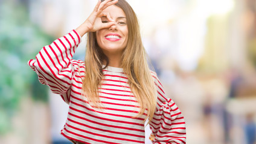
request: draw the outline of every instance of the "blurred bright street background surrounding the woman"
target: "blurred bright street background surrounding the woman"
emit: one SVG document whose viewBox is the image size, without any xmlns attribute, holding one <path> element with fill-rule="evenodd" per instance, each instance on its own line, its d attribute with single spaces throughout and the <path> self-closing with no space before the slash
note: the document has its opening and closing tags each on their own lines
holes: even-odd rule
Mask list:
<svg viewBox="0 0 256 144">
<path fill-rule="evenodd" d="M 187 143 L 255 144 L 256 1 L 127 1 L 165 93 L 184 114 Z M 96 3 L 0 0 L 0 143 L 70 143 L 59 134 L 68 105 L 27 61 Z M 74 59 L 84 59 L 85 43 Z"/>
</svg>

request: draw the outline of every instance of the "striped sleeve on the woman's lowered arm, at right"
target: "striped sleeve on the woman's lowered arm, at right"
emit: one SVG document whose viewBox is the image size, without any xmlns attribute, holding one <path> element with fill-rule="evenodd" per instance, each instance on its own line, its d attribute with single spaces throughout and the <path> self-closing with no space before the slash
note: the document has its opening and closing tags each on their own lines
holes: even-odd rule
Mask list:
<svg viewBox="0 0 256 144">
<path fill-rule="evenodd" d="M 158 100 L 156 112 L 149 123 L 153 143 L 186 143 L 186 128 L 184 117 L 171 98 L 165 97 L 164 89 L 158 77 L 155 78 Z"/>
</svg>

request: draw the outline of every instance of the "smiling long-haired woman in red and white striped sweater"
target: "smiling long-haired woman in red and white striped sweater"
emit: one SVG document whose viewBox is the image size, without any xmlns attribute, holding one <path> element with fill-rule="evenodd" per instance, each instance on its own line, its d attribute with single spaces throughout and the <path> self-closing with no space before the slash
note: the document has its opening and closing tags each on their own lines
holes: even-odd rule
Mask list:
<svg viewBox="0 0 256 144">
<path fill-rule="evenodd" d="M 72 59 L 88 34 L 85 62 Z M 149 70 L 138 20 L 125 0 L 98 1 L 77 29 L 28 64 L 69 104 L 61 134 L 73 143 L 185 143 L 184 117 Z"/>
</svg>

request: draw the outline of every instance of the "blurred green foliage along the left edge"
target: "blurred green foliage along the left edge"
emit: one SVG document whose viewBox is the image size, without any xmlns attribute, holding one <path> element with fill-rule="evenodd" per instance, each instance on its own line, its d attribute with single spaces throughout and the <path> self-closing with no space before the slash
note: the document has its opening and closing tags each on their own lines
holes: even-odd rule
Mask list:
<svg viewBox="0 0 256 144">
<path fill-rule="evenodd" d="M 0 134 L 3 134 L 10 129 L 11 116 L 22 98 L 32 95 L 34 100 L 48 100 L 47 86 L 39 86 L 36 73 L 27 62 L 54 38 L 30 22 L 22 5 L 2 2 L 0 14 Z"/>
</svg>

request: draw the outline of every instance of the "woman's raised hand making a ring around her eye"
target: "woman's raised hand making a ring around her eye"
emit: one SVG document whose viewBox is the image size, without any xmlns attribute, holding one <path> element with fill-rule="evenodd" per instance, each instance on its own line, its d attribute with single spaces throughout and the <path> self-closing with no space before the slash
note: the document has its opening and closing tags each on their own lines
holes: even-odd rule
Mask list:
<svg viewBox="0 0 256 144">
<path fill-rule="evenodd" d="M 99 0 L 90 16 L 75 31 L 82 37 L 87 32 L 98 31 L 99 29 L 109 28 L 111 25 L 114 25 L 115 21 L 110 17 L 109 13 L 103 13 L 103 10 L 117 2 L 118 0 L 105 0 L 103 2 Z M 103 16 L 106 16 L 109 22 L 102 23 L 101 17 Z"/>
</svg>

